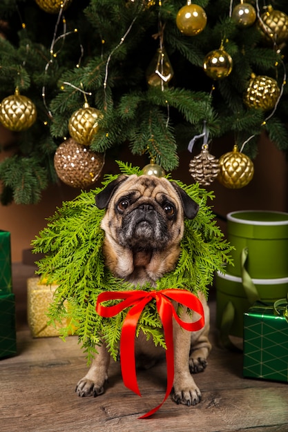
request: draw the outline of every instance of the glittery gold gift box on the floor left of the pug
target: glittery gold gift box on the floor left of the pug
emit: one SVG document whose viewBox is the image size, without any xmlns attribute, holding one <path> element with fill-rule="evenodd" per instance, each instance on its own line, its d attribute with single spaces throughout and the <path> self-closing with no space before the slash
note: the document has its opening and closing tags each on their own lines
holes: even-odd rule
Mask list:
<svg viewBox="0 0 288 432">
<path fill-rule="evenodd" d="M 59 336 L 59 328 L 66 327 L 66 320 L 48 326 L 48 308 L 52 302 L 57 284 L 43 284 L 40 277 L 27 280 L 27 317 L 32 337 Z"/>
</svg>

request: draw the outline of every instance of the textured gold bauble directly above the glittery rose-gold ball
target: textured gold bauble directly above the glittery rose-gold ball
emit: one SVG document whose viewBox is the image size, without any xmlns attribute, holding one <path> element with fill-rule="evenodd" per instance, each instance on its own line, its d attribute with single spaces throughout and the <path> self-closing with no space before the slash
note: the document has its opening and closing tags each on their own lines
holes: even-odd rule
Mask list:
<svg viewBox="0 0 288 432">
<path fill-rule="evenodd" d="M 103 115 L 99 110 L 84 104 L 83 108 L 73 112 L 70 117 L 68 129 L 71 137 L 79 144 L 89 146 L 99 130 L 98 121 L 102 117 Z"/>
</svg>

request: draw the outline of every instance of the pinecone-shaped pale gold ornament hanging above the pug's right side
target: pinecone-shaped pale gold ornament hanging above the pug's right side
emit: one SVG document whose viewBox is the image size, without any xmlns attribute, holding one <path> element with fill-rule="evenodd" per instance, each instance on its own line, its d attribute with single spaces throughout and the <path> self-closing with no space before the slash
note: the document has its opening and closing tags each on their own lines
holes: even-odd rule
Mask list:
<svg viewBox="0 0 288 432">
<path fill-rule="evenodd" d="M 208 144 L 202 145 L 202 150 L 199 155 L 191 159 L 189 164 L 191 177 L 204 186 L 208 186 L 215 180 L 219 170 L 219 161 L 215 156 L 209 153 Z"/>
</svg>

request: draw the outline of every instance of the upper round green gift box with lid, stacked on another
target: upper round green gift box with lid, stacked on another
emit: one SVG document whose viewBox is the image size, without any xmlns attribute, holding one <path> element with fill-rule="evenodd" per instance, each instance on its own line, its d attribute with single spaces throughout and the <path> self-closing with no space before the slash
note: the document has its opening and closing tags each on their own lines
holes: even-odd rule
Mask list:
<svg viewBox="0 0 288 432">
<path fill-rule="evenodd" d="M 228 213 L 227 237 L 235 251 L 227 273 L 241 276 L 241 253 L 247 248 L 245 268 L 252 278 L 288 277 L 288 213 L 243 210 Z"/>
</svg>

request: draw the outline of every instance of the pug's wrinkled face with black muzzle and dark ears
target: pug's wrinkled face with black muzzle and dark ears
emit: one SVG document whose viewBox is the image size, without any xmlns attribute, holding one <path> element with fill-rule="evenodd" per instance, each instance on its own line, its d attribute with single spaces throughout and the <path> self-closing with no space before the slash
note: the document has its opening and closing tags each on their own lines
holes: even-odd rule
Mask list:
<svg viewBox="0 0 288 432">
<path fill-rule="evenodd" d="M 184 190 L 164 177 L 121 176 L 96 196 L 106 208 L 106 234 L 131 251 L 163 251 L 180 242 L 184 215 L 195 217 L 196 204 Z"/>
</svg>

